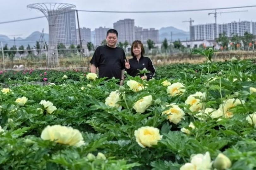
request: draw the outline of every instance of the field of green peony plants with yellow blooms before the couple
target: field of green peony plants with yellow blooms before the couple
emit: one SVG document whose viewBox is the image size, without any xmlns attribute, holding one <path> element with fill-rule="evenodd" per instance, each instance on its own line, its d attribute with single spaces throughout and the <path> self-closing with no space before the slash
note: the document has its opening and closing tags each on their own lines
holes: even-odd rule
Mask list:
<svg viewBox="0 0 256 170">
<path fill-rule="evenodd" d="M 0 167 L 253 170 L 255 71 L 253 60 L 206 58 L 123 86 L 80 71 L 2 75 Z M 49 85 L 26 84 L 43 78 Z"/>
</svg>

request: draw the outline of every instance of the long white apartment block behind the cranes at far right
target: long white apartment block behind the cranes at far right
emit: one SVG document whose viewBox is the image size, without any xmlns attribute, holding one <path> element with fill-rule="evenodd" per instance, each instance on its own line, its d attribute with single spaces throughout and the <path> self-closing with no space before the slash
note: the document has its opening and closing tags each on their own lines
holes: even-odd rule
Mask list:
<svg viewBox="0 0 256 170">
<path fill-rule="evenodd" d="M 190 29 L 190 40 L 214 40 L 219 34 L 225 32 L 227 37 L 238 34 L 243 36 L 245 32 L 256 35 L 255 22 L 239 21 L 226 24 L 217 24 L 217 31 L 214 29 L 215 24 L 192 25 Z"/>
</svg>

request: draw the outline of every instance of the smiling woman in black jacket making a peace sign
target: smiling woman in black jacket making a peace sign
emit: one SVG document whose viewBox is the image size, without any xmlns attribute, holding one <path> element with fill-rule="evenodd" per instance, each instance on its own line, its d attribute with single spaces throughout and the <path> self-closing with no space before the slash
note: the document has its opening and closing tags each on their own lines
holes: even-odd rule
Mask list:
<svg viewBox="0 0 256 170">
<path fill-rule="evenodd" d="M 141 79 L 149 80 L 155 76 L 155 67 L 152 60 L 144 56 L 145 50 L 141 41 L 135 40 L 132 43 L 131 54 L 133 58 L 125 61 L 125 71 L 127 71 L 130 76 L 138 76 L 139 70 L 144 68 L 150 71 L 150 73 L 147 73 L 146 76 L 139 74 Z"/>
</svg>

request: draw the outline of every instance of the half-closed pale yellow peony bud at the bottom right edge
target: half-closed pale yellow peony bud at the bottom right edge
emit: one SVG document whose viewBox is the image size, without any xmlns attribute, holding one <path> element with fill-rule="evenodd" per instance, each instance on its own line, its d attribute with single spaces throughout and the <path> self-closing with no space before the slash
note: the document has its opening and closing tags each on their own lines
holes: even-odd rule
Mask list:
<svg viewBox="0 0 256 170">
<path fill-rule="evenodd" d="M 222 153 L 219 153 L 213 162 L 213 167 L 218 170 L 225 170 L 231 167 L 230 159 Z"/>
</svg>

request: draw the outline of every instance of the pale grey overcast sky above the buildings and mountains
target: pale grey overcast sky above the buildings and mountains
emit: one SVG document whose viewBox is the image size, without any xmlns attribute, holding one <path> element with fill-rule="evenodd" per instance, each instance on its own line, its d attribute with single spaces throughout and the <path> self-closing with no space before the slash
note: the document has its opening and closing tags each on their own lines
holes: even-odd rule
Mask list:
<svg viewBox="0 0 256 170">
<path fill-rule="evenodd" d="M 72 3 L 78 10 L 107 10 L 107 11 L 158 11 L 158 10 L 182 10 L 182 9 L 204 9 L 204 8 L 223 8 L 256 5 L 255 0 L 1 0 L 0 22 L 9 20 L 18 20 L 31 17 L 42 16 L 43 14 L 36 9 L 28 9 L 27 5 L 31 3 Z M 231 21 L 248 20 L 256 21 L 256 7 L 220 10 L 236 11 L 248 10 L 248 12 L 237 12 L 218 14 L 217 23 L 227 23 Z M 134 19 L 136 26 L 143 28 L 156 28 L 174 26 L 184 31 L 189 30 L 189 23 L 182 23 L 183 20 L 189 20 L 191 17 L 196 24 L 213 23 L 214 16 L 208 15 L 214 11 L 199 12 L 179 12 L 179 13 L 146 13 L 146 14 L 122 14 L 122 13 L 92 13 L 79 12 L 80 27 L 91 28 L 93 31 L 100 26 L 113 27 L 117 20 L 125 18 Z M 42 31 L 48 33 L 48 21 L 46 18 L 27 20 L 22 22 L 0 24 L 0 34 L 13 37 L 27 37 L 33 31 Z M 17 37 L 17 36 L 15 36 Z"/>
</svg>

